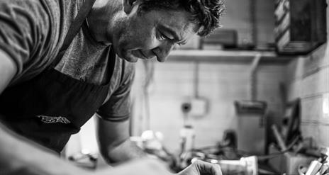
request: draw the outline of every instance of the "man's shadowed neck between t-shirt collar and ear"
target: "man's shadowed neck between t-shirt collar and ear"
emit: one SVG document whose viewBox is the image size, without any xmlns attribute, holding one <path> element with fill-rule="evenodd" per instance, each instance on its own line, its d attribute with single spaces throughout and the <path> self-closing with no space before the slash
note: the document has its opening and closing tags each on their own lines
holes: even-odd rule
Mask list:
<svg viewBox="0 0 329 175">
<path fill-rule="evenodd" d="M 97 42 L 109 45 L 112 43 L 113 23 L 122 11 L 122 0 L 96 0 L 87 20 L 89 30 Z"/>
</svg>

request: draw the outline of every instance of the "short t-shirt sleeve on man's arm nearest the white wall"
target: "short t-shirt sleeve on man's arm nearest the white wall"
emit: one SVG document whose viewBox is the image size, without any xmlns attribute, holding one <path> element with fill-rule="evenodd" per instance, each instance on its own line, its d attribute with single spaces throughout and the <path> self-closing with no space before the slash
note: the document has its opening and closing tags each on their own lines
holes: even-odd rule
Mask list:
<svg viewBox="0 0 329 175">
<path fill-rule="evenodd" d="M 111 122 L 121 122 L 130 118 L 130 89 L 135 77 L 135 67 L 128 63 L 118 89 L 96 112 L 99 117 Z"/>
</svg>

